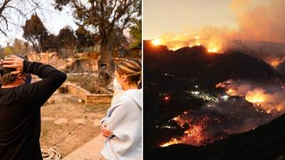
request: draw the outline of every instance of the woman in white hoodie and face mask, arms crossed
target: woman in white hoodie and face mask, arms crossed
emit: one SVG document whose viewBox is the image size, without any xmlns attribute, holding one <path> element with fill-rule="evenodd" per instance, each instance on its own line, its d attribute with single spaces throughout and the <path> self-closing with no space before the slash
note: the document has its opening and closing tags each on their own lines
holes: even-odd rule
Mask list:
<svg viewBox="0 0 285 160">
<path fill-rule="evenodd" d="M 115 66 L 114 88 L 124 92 L 113 100 L 107 116 L 101 121 L 106 137 L 101 154 L 108 160 L 142 159 L 142 65 L 125 60 Z"/>
</svg>

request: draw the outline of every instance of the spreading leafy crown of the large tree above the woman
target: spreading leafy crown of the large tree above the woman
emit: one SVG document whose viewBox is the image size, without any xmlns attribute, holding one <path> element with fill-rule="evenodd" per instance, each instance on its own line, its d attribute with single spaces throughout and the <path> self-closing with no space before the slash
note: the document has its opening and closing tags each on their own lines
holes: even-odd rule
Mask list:
<svg viewBox="0 0 285 160">
<path fill-rule="evenodd" d="M 133 25 L 132 19 L 141 16 L 141 0 L 55 0 L 56 9 L 70 4 L 78 25 L 87 26 L 98 33 L 100 46 L 108 46 L 114 30 L 123 35 Z M 117 41 L 120 39 L 117 38 Z"/>
</svg>

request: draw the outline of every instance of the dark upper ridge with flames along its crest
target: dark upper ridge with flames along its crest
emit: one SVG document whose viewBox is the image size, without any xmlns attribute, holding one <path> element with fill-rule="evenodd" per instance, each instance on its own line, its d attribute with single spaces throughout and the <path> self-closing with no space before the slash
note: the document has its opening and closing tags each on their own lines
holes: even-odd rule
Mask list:
<svg viewBox="0 0 285 160">
<path fill-rule="evenodd" d="M 282 77 L 259 58 L 238 51 L 207 53 L 202 46 L 172 51 L 145 41 L 144 60 L 146 82 L 157 73 L 187 77 L 209 85 L 228 79 L 276 80 Z"/>
</svg>

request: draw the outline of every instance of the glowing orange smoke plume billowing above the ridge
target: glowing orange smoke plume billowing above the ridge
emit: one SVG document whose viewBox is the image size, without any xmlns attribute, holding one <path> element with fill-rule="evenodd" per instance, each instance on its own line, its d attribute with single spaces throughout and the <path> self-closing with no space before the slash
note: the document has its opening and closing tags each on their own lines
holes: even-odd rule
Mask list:
<svg viewBox="0 0 285 160">
<path fill-rule="evenodd" d="M 166 33 L 160 40 L 173 50 L 203 45 L 209 50 L 216 48 L 213 51 L 226 49 L 232 40 L 285 43 L 285 1 L 232 0 L 229 9 L 234 12 L 237 28 L 206 26 L 194 32 Z"/>
</svg>

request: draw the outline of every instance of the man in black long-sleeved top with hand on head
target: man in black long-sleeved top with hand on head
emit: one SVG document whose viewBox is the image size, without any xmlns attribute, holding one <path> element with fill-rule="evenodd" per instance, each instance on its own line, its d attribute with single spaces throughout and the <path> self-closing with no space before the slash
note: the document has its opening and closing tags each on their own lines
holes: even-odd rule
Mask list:
<svg viewBox="0 0 285 160">
<path fill-rule="evenodd" d="M 66 74 L 16 55 L 1 60 L 0 74 L 0 160 L 41 160 L 41 106 Z"/>
</svg>

